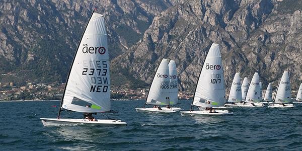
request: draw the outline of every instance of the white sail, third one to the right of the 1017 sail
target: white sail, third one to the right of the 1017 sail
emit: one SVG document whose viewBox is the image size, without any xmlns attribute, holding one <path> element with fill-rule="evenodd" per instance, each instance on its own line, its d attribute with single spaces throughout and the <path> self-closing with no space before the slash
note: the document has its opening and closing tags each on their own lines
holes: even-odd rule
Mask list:
<svg viewBox="0 0 302 151">
<path fill-rule="evenodd" d="M 256 103 L 260 102 L 261 100 L 262 99 L 260 99 L 259 74 L 258 72 L 255 72 L 245 102 Z"/>
</svg>

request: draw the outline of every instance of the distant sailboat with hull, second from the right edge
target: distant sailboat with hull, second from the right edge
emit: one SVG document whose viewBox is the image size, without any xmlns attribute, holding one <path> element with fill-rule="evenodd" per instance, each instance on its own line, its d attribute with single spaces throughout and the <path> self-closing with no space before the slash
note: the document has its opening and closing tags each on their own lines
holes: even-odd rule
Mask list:
<svg viewBox="0 0 302 151">
<path fill-rule="evenodd" d="M 284 71 L 281 80 L 279 81 L 278 87 L 275 92 L 274 100 L 268 107 L 271 108 L 292 108 L 293 104 L 290 97 L 290 81 L 288 71 Z"/>
</svg>

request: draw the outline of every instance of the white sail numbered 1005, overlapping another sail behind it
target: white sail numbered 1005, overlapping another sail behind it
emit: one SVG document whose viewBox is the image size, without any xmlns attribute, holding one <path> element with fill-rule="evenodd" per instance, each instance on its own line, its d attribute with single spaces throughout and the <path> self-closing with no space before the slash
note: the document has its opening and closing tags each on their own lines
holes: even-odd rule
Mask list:
<svg viewBox="0 0 302 151">
<path fill-rule="evenodd" d="M 169 65 L 168 60 L 163 59 L 159 65 L 153 82 L 151 84 L 146 104 L 151 105 L 169 105 L 170 90 L 169 90 Z"/>
</svg>

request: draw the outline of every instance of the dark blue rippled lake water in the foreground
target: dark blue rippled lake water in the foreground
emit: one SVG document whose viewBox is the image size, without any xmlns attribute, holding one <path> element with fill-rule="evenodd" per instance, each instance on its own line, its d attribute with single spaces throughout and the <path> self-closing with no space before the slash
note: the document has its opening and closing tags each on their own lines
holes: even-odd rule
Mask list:
<svg viewBox="0 0 302 151">
<path fill-rule="evenodd" d="M 44 127 L 40 118 L 55 118 L 58 101 L 0 102 L 0 150 L 302 150 L 302 105 L 234 108 L 234 115 L 213 117 L 136 113 L 143 103 L 112 101 L 119 113 L 106 115 L 125 127 Z M 189 109 L 191 101 L 181 103 Z"/>
</svg>

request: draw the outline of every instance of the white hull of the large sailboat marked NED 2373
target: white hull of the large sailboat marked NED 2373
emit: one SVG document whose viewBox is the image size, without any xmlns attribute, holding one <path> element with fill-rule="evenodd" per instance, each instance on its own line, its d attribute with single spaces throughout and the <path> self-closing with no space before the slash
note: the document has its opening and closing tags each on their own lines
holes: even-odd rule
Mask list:
<svg viewBox="0 0 302 151">
<path fill-rule="evenodd" d="M 98 121 L 89 121 L 87 119 L 68 119 L 68 118 L 40 118 L 44 126 L 62 126 L 62 125 L 93 125 L 93 126 L 127 126 L 126 122 L 111 119 L 98 119 Z"/>
</svg>

